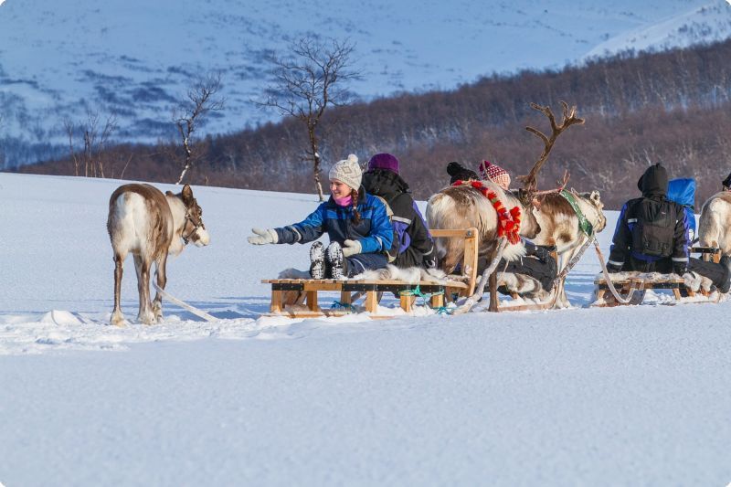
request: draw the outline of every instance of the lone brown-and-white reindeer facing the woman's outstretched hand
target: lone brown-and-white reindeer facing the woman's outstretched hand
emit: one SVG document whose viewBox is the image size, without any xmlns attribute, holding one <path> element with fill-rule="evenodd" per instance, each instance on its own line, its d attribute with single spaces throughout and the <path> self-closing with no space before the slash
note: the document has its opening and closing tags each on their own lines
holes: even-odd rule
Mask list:
<svg viewBox="0 0 731 487">
<path fill-rule="evenodd" d="M 168 254 L 178 255 L 188 242 L 196 247 L 208 245 L 210 238 L 203 224 L 203 210 L 189 185 L 177 195 L 163 193 L 152 185 L 122 185 L 111 194 L 107 230 L 114 253 L 114 310 L 111 324 L 122 326 L 120 308 L 122 265 L 128 253 L 134 257 L 140 310 L 137 320 L 158 323 L 163 318 L 163 297 L 157 292 L 150 302 L 150 268 L 155 264 L 157 285 L 167 282 L 165 262 Z"/>
</svg>

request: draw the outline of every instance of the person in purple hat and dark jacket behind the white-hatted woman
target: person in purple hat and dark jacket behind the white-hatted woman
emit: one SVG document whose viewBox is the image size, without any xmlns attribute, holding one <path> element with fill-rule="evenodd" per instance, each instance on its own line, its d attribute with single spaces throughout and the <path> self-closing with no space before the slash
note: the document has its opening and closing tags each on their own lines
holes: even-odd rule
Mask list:
<svg viewBox="0 0 731 487">
<path fill-rule="evenodd" d="M 396 156 L 382 153 L 371 157 L 368 170 L 363 175 L 365 191 L 383 198 L 393 213 L 394 238 L 391 249 L 387 251 L 388 260 L 398 268 L 433 268 L 437 265 L 434 242 L 398 170 Z"/>
</svg>

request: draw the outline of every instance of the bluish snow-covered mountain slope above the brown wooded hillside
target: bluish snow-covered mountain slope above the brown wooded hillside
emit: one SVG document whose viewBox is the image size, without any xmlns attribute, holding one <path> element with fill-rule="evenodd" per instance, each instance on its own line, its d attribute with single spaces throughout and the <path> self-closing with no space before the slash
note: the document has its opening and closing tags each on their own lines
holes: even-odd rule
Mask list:
<svg viewBox="0 0 731 487">
<path fill-rule="evenodd" d="M 250 103 L 265 85 L 264 54 L 307 31 L 356 43 L 355 67 L 365 79 L 354 88 L 368 99 L 450 89 L 495 71 L 556 68 L 595 52 L 723 38 L 731 33 L 729 19 L 723 0 L 610 6 L 569 0 L 7 0 L 0 5 L 0 139 L 10 138 L 5 164 L 25 163 L 33 157 L 24 151 L 28 144 L 65 145 L 63 119 L 80 122 L 89 109 L 116 113 L 118 138 L 154 142 L 170 135 L 171 109 L 191 79 L 213 70 L 224 76 L 227 109 L 204 130 L 240 130 L 274 116 Z M 628 37 L 648 29 L 652 37 L 641 44 Z"/>
</svg>

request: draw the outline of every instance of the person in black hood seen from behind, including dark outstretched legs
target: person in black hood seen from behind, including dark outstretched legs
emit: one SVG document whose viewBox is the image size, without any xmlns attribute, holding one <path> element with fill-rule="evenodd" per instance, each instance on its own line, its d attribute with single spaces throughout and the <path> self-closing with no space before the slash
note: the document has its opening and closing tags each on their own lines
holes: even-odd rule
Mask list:
<svg viewBox="0 0 731 487">
<path fill-rule="evenodd" d="M 609 272 L 694 271 L 713 281 L 721 292 L 731 289 L 731 259 L 719 264 L 690 259 L 688 215 L 683 205 L 667 198 L 668 174 L 662 164 L 651 165 L 637 187 L 642 196 L 622 206 L 609 251 Z"/>
</svg>

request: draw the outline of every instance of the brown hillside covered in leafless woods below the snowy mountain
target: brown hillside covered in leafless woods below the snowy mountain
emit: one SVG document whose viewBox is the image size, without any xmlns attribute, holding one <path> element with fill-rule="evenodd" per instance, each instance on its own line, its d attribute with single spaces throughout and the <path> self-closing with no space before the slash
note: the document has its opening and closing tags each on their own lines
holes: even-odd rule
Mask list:
<svg viewBox="0 0 731 487">
<path fill-rule="evenodd" d="M 644 167 L 662 162 L 675 177 L 698 179 L 700 202 L 731 170 L 729 58 L 726 41 L 361 103 L 331 113 L 328 122 L 338 122 L 329 125 L 322 153 L 327 164 L 349 153 L 364 162 L 376 152 L 397 154 L 416 196 L 426 198 L 448 182 L 445 166 L 452 160 L 476 166 L 488 159 L 526 174 L 543 146 L 524 126 L 549 131 L 529 103 L 550 105 L 559 115 L 558 101 L 565 100 L 587 122 L 558 139 L 542 186 L 568 169 L 571 185 L 599 189 L 608 207 L 617 208 L 635 193 Z M 295 122 L 204 144 L 205 163 L 191 173 L 196 184 L 313 191 L 310 166 L 300 162 L 305 133 Z M 118 177 L 125 165 L 125 178 L 171 182 L 179 174 L 174 148 L 164 144 L 120 146 L 105 157 L 108 176 Z M 54 161 L 23 171 L 73 174 L 73 166 Z"/>
</svg>

